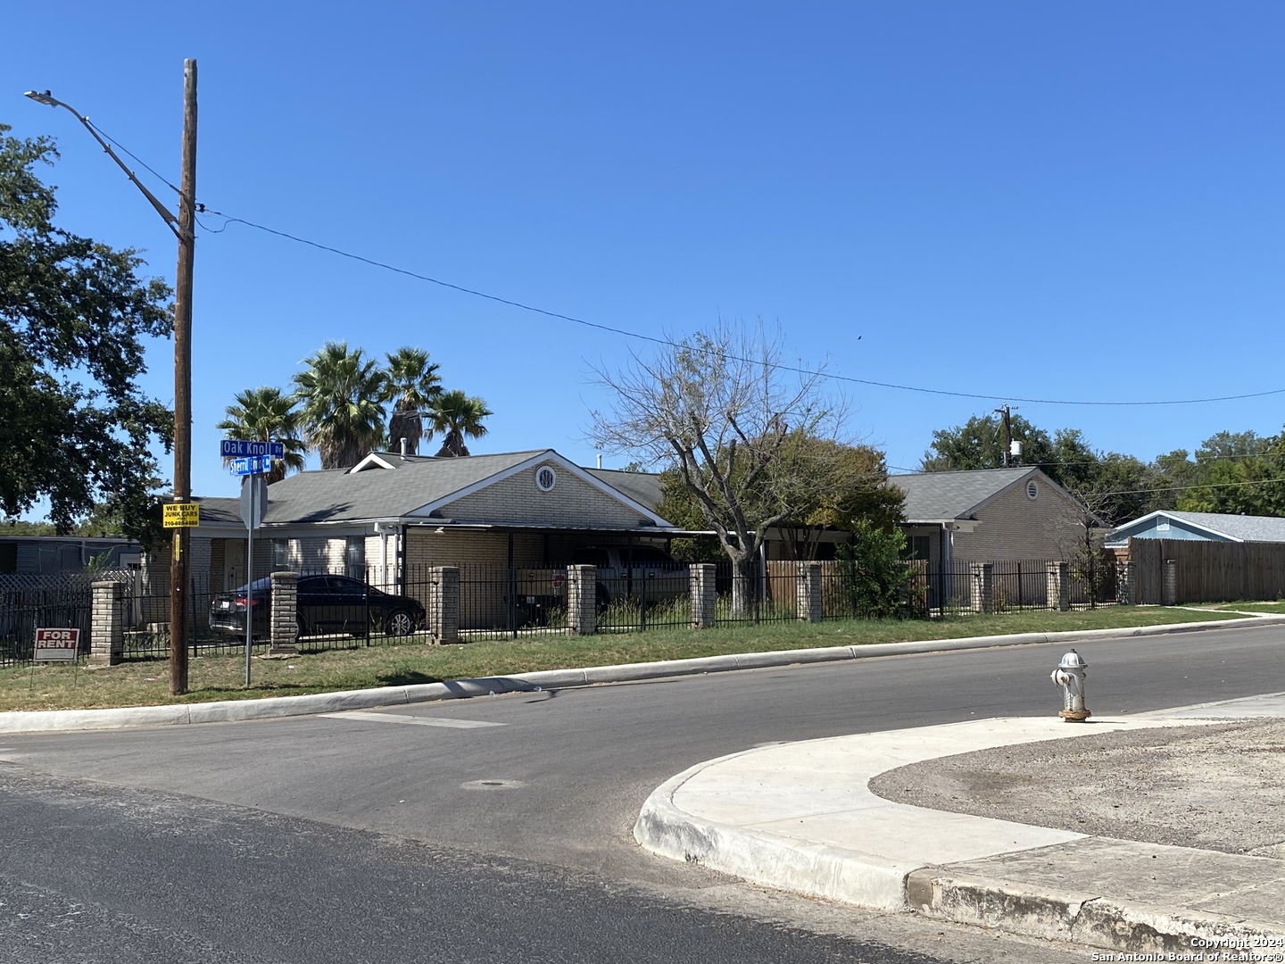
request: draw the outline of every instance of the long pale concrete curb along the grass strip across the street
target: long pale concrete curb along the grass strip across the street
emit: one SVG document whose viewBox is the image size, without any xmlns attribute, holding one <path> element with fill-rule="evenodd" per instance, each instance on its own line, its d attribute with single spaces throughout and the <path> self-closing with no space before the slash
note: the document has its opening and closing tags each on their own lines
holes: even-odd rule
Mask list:
<svg viewBox="0 0 1285 964">
<path fill-rule="evenodd" d="M 910 643 L 873 643 L 869 645 L 826 647 L 821 649 L 783 649 L 767 653 L 729 653 L 693 659 L 666 659 L 651 663 L 625 663 L 621 666 L 590 666 L 573 670 L 541 670 L 537 672 L 514 674 L 513 676 L 424 683 L 414 686 L 379 686 L 375 689 L 343 690 L 339 693 L 314 693 L 302 697 L 229 699 L 213 703 L 179 703 L 118 710 L 15 710 L 0 712 L 0 733 L 120 730 L 139 726 L 270 720 L 287 716 L 334 713 L 344 710 L 370 710 L 442 699 L 464 699 L 500 693 L 529 693 L 537 688 L 563 689 L 604 683 L 635 683 L 666 676 L 691 676 L 709 672 L 730 672 L 734 670 L 763 670 L 802 663 L 870 659 L 915 653 L 947 653 L 961 649 L 1027 647 L 1045 643 L 1076 643 L 1100 639 L 1132 639 L 1135 636 L 1160 636 L 1234 626 L 1255 626 L 1262 622 L 1285 623 L 1285 616 L 1210 620 L 1205 622 L 1178 622 L 1163 626 L 1108 630 L 1019 632 L 1006 636 L 966 636 L 961 639 L 915 640 Z"/>
</svg>

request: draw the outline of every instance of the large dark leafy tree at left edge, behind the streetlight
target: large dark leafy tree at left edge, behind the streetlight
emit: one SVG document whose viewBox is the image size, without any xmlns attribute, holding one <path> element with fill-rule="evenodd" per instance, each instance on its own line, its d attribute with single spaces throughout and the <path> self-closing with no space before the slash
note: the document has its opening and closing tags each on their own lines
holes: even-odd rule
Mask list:
<svg viewBox="0 0 1285 964">
<path fill-rule="evenodd" d="M 54 188 L 35 168 L 58 152 L 9 130 L 0 125 L 0 509 L 18 515 L 45 497 L 69 532 L 103 503 L 152 542 L 162 482 L 148 452 L 168 449 L 173 414 L 136 380 L 141 341 L 172 330 L 170 289 L 139 278 L 137 251 L 55 228 Z"/>
</svg>

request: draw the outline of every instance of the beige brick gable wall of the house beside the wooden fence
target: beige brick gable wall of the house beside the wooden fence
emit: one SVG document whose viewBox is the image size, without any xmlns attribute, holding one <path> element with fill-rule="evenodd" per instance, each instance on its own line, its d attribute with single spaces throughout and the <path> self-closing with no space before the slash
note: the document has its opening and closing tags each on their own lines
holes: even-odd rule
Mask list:
<svg viewBox="0 0 1285 964">
<path fill-rule="evenodd" d="M 1043 479 L 1038 496 L 1027 495 L 1022 482 L 978 510 L 975 532 L 955 533 L 956 559 L 1067 559 L 1082 530 L 1076 503 Z"/>
</svg>

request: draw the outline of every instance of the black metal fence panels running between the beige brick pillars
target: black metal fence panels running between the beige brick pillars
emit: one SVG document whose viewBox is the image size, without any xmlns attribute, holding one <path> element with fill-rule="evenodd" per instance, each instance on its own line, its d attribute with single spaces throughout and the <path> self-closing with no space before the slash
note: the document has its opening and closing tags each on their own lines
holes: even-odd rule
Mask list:
<svg viewBox="0 0 1285 964">
<path fill-rule="evenodd" d="M 1055 608 L 1050 604 L 1047 560 L 1001 560 L 988 573 L 978 563 L 939 566 L 910 560 L 897 572 L 876 573 L 858 563 L 819 564 L 820 617 L 934 618 L 978 612 Z M 568 632 L 567 567 L 513 567 L 465 563 L 460 569 L 460 636 L 464 640 L 537 638 Z M 714 625 L 794 622 L 807 617 L 801 594 L 802 569 L 794 562 L 756 562 L 740 573 L 716 566 Z M 1115 602 L 1117 567 L 1094 558 L 1067 566 L 1070 608 Z M 104 577 L 126 585 L 123 630 L 126 659 L 162 659 L 170 652 L 168 587 L 145 589 L 137 573 L 0 577 L 0 666 L 31 661 L 37 626 L 80 627 L 81 652 L 90 648 L 91 584 Z M 988 578 L 988 581 L 987 581 Z M 423 641 L 430 605 L 428 567 L 406 571 L 384 585 L 378 573 L 302 573 L 298 648 L 303 652 Z M 307 586 L 307 591 L 305 587 Z M 193 654 L 242 650 L 245 607 L 252 612 L 256 648 L 267 647 L 270 590 L 266 578 L 245 593 L 225 590 L 208 577 L 189 586 L 188 644 Z M 595 575 L 596 631 L 635 632 L 691 625 L 690 568 L 684 563 L 648 563 L 599 568 Z M 803 612 L 801 613 L 801 607 Z"/>
</svg>

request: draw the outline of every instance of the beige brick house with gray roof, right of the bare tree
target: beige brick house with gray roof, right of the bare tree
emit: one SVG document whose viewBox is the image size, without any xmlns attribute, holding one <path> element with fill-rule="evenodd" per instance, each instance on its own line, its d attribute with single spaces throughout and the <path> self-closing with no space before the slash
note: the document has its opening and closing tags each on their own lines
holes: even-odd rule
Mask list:
<svg viewBox="0 0 1285 964">
<path fill-rule="evenodd" d="M 903 530 L 914 558 L 1064 560 L 1100 523 L 1037 468 L 889 476 L 906 494 Z"/>
</svg>

